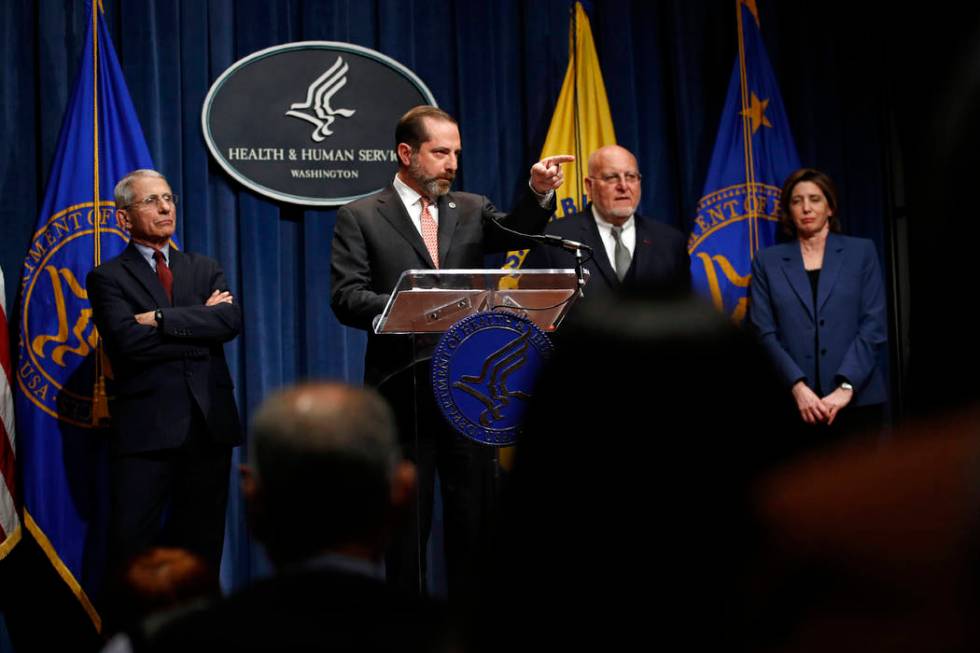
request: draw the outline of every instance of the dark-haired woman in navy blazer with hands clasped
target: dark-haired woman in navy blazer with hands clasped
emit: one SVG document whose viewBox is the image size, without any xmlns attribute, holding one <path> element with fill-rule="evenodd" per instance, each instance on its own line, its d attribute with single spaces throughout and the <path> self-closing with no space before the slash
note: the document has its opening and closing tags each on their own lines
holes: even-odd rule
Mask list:
<svg viewBox="0 0 980 653">
<path fill-rule="evenodd" d="M 830 177 L 797 170 L 780 197 L 788 243 L 752 263 L 749 320 L 811 425 L 881 422 L 885 294 L 870 240 L 840 233 Z M 836 429 L 835 429 L 836 430 Z"/>
</svg>

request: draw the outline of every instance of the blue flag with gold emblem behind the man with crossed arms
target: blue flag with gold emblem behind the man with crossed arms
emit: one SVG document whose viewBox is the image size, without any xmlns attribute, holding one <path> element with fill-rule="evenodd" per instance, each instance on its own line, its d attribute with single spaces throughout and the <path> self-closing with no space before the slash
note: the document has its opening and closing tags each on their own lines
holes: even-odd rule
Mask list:
<svg viewBox="0 0 980 653">
<path fill-rule="evenodd" d="M 21 275 L 17 452 L 24 525 L 101 628 L 108 497 L 104 369 L 84 283 L 118 255 L 113 187 L 152 168 L 98 3 Z"/>
</svg>

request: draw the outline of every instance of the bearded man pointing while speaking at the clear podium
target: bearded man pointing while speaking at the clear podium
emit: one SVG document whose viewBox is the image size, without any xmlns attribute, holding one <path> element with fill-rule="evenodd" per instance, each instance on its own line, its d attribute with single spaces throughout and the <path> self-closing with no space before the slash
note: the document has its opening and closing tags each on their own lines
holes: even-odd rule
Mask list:
<svg viewBox="0 0 980 653">
<path fill-rule="evenodd" d="M 462 151 L 459 127 L 445 111 L 419 106 L 395 129 L 398 173 L 380 192 L 337 212 L 331 253 L 332 307 L 347 326 L 368 332 L 364 380 L 391 402 L 407 458 L 418 467 L 416 523 L 406 524 L 389 548 L 390 582 L 423 589 L 426 542 L 438 469 L 445 515 L 446 567 L 451 595 L 466 589 L 487 536 L 496 475 L 494 451 L 456 434 L 438 414 L 429 380 L 437 338 L 420 338 L 413 354 L 406 336 L 375 335 L 402 272 L 482 268 L 484 254 L 527 243 L 490 224 L 541 233 L 554 211 L 554 190 L 569 155 L 531 167 L 528 192 L 509 215 L 482 195 L 450 192 Z"/>
</svg>

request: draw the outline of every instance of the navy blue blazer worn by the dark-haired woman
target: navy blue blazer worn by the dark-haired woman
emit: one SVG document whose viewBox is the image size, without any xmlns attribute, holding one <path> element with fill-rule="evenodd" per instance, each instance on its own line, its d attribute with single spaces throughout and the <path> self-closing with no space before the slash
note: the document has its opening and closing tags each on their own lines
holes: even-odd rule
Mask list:
<svg viewBox="0 0 980 653">
<path fill-rule="evenodd" d="M 756 255 L 750 296 L 749 320 L 787 387 L 802 379 L 824 397 L 846 380 L 854 386 L 851 405 L 887 399 L 878 364 L 887 342 L 885 293 L 870 240 L 827 236 L 816 307 L 795 240 Z"/>
</svg>

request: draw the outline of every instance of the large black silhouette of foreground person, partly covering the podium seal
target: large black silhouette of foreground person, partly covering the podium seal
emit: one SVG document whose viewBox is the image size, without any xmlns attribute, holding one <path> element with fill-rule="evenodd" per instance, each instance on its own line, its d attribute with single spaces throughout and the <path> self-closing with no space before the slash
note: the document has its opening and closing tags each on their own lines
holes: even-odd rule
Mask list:
<svg viewBox="0 0 980 653">
<path fill-rule="evenodd" d="M 785 393 L 697 299 L 578 308 L 518 444 L 495 605 L 528 648 L 738 644 L 754 618 L 752 484 L 793 453 Z"/>
</svg>

